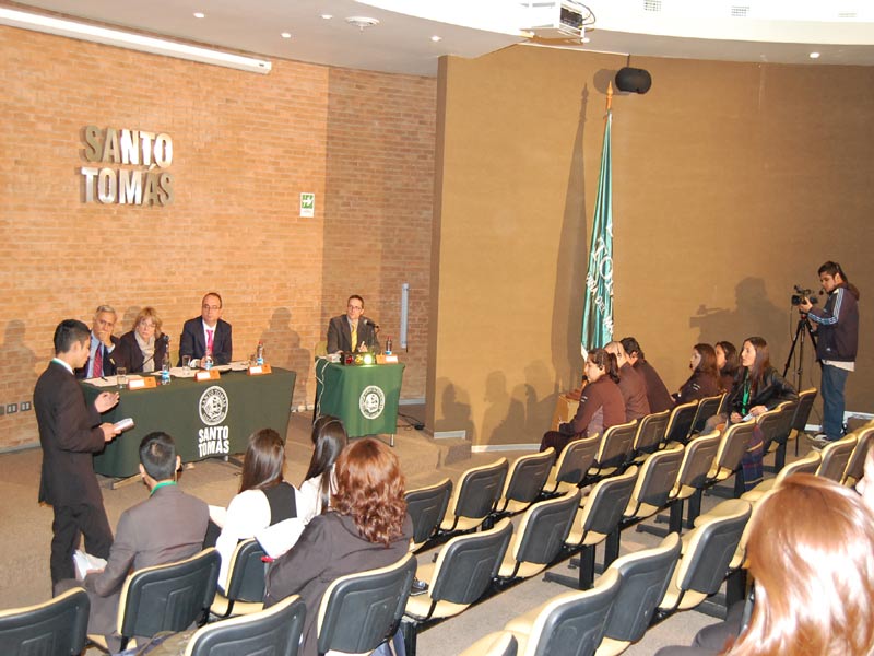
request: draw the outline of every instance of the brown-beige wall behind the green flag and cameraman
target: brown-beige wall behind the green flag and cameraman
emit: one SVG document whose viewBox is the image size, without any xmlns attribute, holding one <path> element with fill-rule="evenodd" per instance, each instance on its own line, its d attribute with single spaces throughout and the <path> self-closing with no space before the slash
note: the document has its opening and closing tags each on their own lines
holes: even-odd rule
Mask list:
<svg viewBox="0 0 874 656">
<path fill-rule="evenodd" d="M 793 283 L 862 291 L 848 409 L 871 412 L 874 69 L 635 58 L 613 109 L 614 306 L 676 389 L 690 347 L 761 335 L 782 370 Z M 428 425 L 538 442 L 581 373 L 579 321 L 607 80 L 625 58 L 518 46 L 438 83 Z M 818 386 L 806 363 L 804 386 Z M 814 418 L 816 420 L 817 418 Z"/>
</svg>

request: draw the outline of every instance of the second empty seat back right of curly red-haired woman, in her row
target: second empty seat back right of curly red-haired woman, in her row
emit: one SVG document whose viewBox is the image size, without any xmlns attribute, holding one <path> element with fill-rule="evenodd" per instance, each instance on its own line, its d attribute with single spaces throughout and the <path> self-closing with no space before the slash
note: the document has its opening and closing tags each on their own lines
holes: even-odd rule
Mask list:
<svg viewBox="0 0 874 656">
<path fill-rule="evenodd" d="M 562 551 L 574 526 L 580 495 L 581 492 L 575 490 L 528 508 L 513 541 L 513 558 L 539 565 L 551 563 Z"/>
</svg>

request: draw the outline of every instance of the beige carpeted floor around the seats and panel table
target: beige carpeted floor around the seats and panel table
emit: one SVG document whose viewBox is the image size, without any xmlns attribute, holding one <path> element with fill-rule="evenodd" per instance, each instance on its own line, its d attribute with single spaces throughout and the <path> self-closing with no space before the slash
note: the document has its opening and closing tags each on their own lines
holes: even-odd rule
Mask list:
<svg viewBox="0 0 874 656">
<path fill-rule="evenodd" d="M 424 408 L 405 406 L 402 411 L 421 418 Z M 294 483 L 300 482 L 311 454 L 310 419 L 309 413 L 294 413 L 290 422 L 286 476 Z M 521 455 L 474 454 L 468 458 L 469 449 L 458 442 L 460 441 L 434 441 L 412 427 L 399 427 L 395 449 L 408 479 L 408 489 L 436 482 L 447 476 L 456 480 L 462 471 L 475 465 L 486 464 L 498 457 L 511 460 Z M 802 444 L 802 447 L 803 452 L 807 450 L 806 445 Z M 0 552 L 3 554 L 0 565 L 0 609 L 39 602 L 50 594 L 48 555 L 51 509 L 36 503 L 40 461 L 42 452 L 38 448 L 0 454 L 0 497 L 3 500 L 0 505 L 0 525 L 3 527 L 0 534 Z M 225 505 L 236 492 L 237 477 L 235 466 L 222 460 L 206 460 L 186 469 L 180 478 L 180 485 L 210 504 Z M 110 489 L 109 479 L 102 478 L 101 483 L 113 527 L 125 508 L 146 496 L 146 490 L 140 482 L 116 490 Z M 718 501 L 720 500 L 706 496 L 705 508 Z M 627 530 L 623 535 L 622 552 L 653 547 L 658 541 L 659 538 L 649 534 Z M 433 553 L 421 554 L 420 562 L 427 562 L 432 555 Z M 567 565 L 560 564 L 555 569 L 567 570 Z M 572 575 L 572 572 L 569 573 Z M 568 589 L 555 583 L 545 583 L 542 578 L 535 576 L 421 633 L 418 653 L 422 656 L 458 654 L 479 637 L 499 630 L 513 617 Z M 678 613 L 651 629 L 626 654 L 647 655 L 666 644 L 689 644 L 698 629 L 714 621 L 717 620 L 696 611 Z"/>
</svg>

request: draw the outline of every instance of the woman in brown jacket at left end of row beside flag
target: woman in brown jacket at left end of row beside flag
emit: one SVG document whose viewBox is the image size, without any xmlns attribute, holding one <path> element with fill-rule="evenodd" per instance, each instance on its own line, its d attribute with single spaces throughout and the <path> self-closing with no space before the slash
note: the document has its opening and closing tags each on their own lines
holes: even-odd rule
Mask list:
<svg viewBox="0 0 874 656">
<path fill-rule="evenodd" d="M 604 349 L 594 349 L 586 359 L 583 373 L 589 384 L 580 394 L 577 414 L 570 423 L 558 424 L 557 431 L 547 431 L 541 440 L 540 450 L 552 446 L 557 456 L 578 437 L 600 435 L 610 426 L 625 423 L 616 356 Z"/>
</svg>

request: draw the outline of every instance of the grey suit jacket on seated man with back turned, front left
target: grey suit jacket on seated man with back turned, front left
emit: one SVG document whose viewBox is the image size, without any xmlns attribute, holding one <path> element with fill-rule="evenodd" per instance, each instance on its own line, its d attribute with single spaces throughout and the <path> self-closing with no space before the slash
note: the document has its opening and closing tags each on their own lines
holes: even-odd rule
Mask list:
<svg viewBox="0 0 874 656">
<path fill-rule="evenodd" d="M 116 631 L 118 601 L 128 574 L 196 554 L 203 547 L 210 511 L 177 485 L 158 488 L 121 514 L 106 569 L 83 582 L 91 600 L 88 633 Z"/>
</svg>

